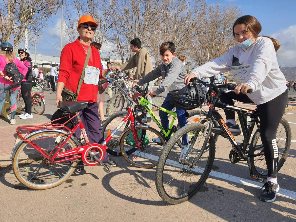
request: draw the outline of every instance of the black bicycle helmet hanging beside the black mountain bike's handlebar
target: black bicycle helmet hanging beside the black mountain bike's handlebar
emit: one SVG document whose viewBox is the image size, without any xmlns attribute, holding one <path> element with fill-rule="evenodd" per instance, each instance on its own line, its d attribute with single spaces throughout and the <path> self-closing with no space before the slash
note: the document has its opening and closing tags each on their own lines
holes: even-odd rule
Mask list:
<svg viewBox="0 0 296 222">
<path fill-rule="evenodd" d="M 186 85 L 173 95 L 170 103 L 180 109 L 190 110 L 199 107 L 205 101 L 200 85 Z"/>
</svg>

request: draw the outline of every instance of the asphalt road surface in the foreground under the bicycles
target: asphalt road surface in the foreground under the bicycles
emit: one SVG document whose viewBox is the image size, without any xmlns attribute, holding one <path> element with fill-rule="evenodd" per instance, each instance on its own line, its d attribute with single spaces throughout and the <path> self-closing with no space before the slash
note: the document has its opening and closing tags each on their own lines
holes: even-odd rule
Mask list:
<svg viewBox="0 0 296 222">
<path fill-rule="evenodd" d="M 56 110 L 54 96 L 46 95 L 43 115 L 17 124 L 49 120 Z M 85 167 L 60 186 L 42 191 L 23 187 L 11 167 L 0 168 L 1 221 L 295 221 L 296 111 L 284 117 L 290 122 L 292 143 L 278 174 L 282 194 L 272 203 L 259 200 L 263 184 L 252 180 L 245 162 L 229 162 L 230 143 L 220 136 L 212 176 L 179 205 L 167 205 L 158 196 L 155 168 L 136 168 L 122 157 L 112 157 L 118 167 L 109 174 L 101 166 Z M 236 139 L 240 142 L 242 136 Z"/>
</svg>

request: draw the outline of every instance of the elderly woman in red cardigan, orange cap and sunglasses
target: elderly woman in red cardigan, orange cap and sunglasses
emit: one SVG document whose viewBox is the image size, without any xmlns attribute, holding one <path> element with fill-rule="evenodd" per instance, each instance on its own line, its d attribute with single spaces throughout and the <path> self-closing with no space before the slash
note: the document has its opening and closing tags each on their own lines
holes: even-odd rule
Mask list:
<svg viewBox="0 0 296 222">
<path fill-rule="evenodd" d="M 89 50 L 91 39 L 94 37 L 95 30 L 98 24 L 90 15 L 83 15 L 78 21 L 77 31 L 79 33 L 78 39 L 74 42 L 67 44 L 61 53 L 60 68 L 59 68 L 59 79 L 57 83 L 57 95 L 56 104 L 59 107 L 59 102 L 62 100 L 62 90 L 64 87 L 77 93 L 79 79 L 81 77 L 82 69 L 86 61 L 86 56 Z M 108 69 L 102 70 L 101 57 L 94 48 L 91 46 L 91 53 L 89 56 L 88 66 L 99 68 L 101 70 L 100 76 L 107 74 Z M 92 83 L 82 82 L 77 101 L 88 101 L 86 108 L 79 111 L 80 118 L 86 129 L 86 134 L 91 143 L 102 143 L 103 137 L 101 134 L 101 122 L 99 119 L 98 111 L 98 85 Z M 80 137 L 80 128 L 76 131 L 76 136 Z M 105 153 L 103 162 L 109 163 L 111 166 L 116 166 L 117 163 L 110 159 Z M 83 169 L 83 166 L 81 166 Z"/>
</svg>

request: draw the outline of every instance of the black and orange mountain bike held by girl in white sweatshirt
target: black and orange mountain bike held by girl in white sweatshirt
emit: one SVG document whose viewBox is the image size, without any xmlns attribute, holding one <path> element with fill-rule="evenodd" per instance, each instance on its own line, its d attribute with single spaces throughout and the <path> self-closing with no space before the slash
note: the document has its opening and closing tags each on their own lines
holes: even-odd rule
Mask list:
<svg viewBox="0 0 296 222">
<path fill-rule="evenodd" d="M 247 161 L 250 176 L 260 182 L 267 178 L 267 167 L 264 156 L 264 147 L 260 140 L 260 119 L 258 108 L 249 110 L 241 107 L 231 106 L 219 102 L 222 92 L 234 91 L 236 85 L 223 84 L 215 86 L 207 84 L 202 80 L 194 80 L 191 84 L 203 84 L 209 86 L 212 91 L 210 109 L 207 117 L 200 119 L 199 123 L 192 123 L 178 130 L 163 148 L 158 160 L 155 183 L 160 197 L 170 204 L 178 204 L 189 200 L 204 184 L 210 174 L 215 157 L 215 141 L 212 135 L 213 121 L 217 122 L 223 129 L 222 136 L 226 137 L 232 145 L 229 153 L 231 163 Z M 215 108 L 236 111 L 242 127 L 244 139 L 237 142 L 231 134 L 225 121 Z M 272 120 L 271 120 L 272 121 Z M 257 125 L 254 135 L 252 131 Z M 182 155 L 178 140 L 188 133 L 189 149 Z M 252 136 L 252 139 L 251 139 Z M 251 139 L 251 142 L 249 142 Z M 286 119 L 282 118 L 276 132 L 276 142 L 279 149 L 278 171 L 283 166 L 289 153 L 291 144 L 291 128 Z"/>
</svg>

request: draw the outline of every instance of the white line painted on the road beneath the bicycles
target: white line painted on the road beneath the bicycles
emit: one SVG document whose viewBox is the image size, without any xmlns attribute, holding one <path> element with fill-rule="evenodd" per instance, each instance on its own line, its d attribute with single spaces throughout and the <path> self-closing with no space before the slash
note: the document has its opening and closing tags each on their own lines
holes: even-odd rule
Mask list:
<svg viewBox="0 0 296 222">
<path fill-rule="evenodd" d="M 143 157 L 142 155 L 139 155 L 139 156 Z M 155 161 L 158 160 L 157 156 L 151 155 L 151 154 L 145 154 L 145 157 L 146 158 L 148 157 L 149 159 L 153 159 Z M 176 167 L 180 167 L 180 168 L 183 167 L 183 164 L 180 164 L 177 161 L 167 160 L 167 163 L 169 163 L 172 166 L 176 166 Z M 203 172 L 204 168 L 194 168 L 194 169 L 192 169 L 192 171 L 196 171 L 196 172 L 198 172 L 199 170 L 202 170 L 202 172 Z M 217 178 L 220 178 L 220 179 L 228 180 L 228 181 L 235 182 L 235 183 L 238 183 L 238 184 L 242 184 L 242 185 L 245 185 L 245 186 L 253 187 L 253 188 L 256 188 L 256 189 L 261 189 L 261 187 L 263 186 L 263 183 L 259 183 L 259 182 L 248 180 L 248 179 L 244 179 L 244 178 L 241 178 L 241 177 L 238 177 L 238 176 L 232 176 L 232 175 L 229 175 L 229 174 L 224 174 L 224 173 L 214 171 L 214 170 L 211 170 L 210 176 L 214 176 L 214 177 L 217 177 Z M 289 198 L 292 198 L 292 199 L 296 200 L 296 192 L 291 191 L 291 190 L 280 188 L 277 195 L 284 196 L 284 197 L 289 197 Z"/>
</svg>

